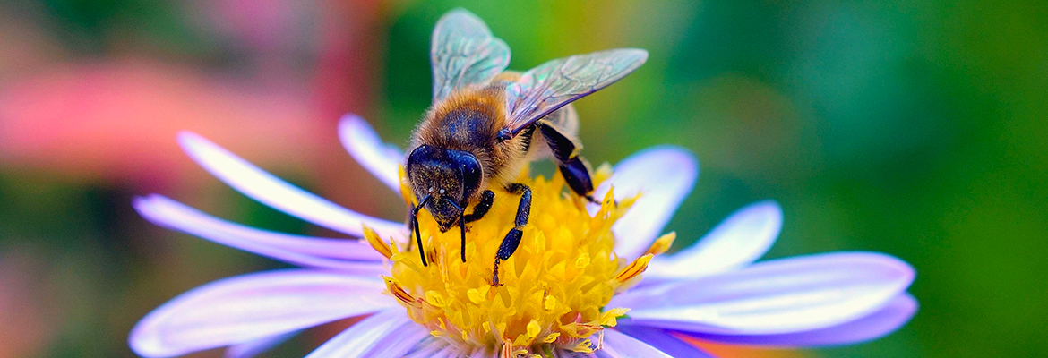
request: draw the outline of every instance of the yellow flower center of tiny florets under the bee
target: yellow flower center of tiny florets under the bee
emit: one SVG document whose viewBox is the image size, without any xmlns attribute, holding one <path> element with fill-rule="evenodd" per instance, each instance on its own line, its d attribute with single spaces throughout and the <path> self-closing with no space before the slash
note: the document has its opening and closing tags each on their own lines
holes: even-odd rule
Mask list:
<svg viewBox="0 0 1048 358">
<path fill-rule="evenodd" d="M 599 182 L 610 174 L 604 165 L 594 179 Z M 611 226 L 633 199 L 616 203 L 609 191 L 599 211 L 590 217 L 585 202 L 567 193 L 559 175 L 532 180 L 525 174 L 518 182 L 531 187 L 531 215 L 517 251 L 499 265 L 498 286 L 492 283 L 496 251 L 514 227 L 520 196 L 493 188 L 490 210 L 467 225 L 465 263 L 459 256 L 458 228 L 440 232 L 425 210 L 419 211 L 418 221 L 429 266 L 422 266 L 416 245 L 401 249 L 365 228 L 372 246 L 392 263 L 391 276 L 385 277 L 389 293 L 434 336 L 467 352 L 504 357 L 546 355 L 555 349 L 592 352 L 598 342 L 590 337 L 614 327 L 628 311 L 605 306 L 639 279 L 648 261 L 665 251 L 673 234 L 628 264 L 613 252 Z M 413 199 L 410 193 L 401 187 L 407 201 Z"/>
</svg>

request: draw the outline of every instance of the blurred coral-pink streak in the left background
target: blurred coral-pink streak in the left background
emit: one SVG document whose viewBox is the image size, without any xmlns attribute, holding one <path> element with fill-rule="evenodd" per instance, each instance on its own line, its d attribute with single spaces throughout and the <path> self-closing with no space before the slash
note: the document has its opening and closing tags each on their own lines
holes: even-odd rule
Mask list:
<svg viewBox="0 0 1048 358">
<path fill-rule="evenodd" d="M 150 61 L 49 67 L 0 88 L 0 164 L 166 180 L 192 167 L 174 140 L 184 129 L 261 164 L 301 162 L 334 142 L 310 102 Z"/>
</svg>

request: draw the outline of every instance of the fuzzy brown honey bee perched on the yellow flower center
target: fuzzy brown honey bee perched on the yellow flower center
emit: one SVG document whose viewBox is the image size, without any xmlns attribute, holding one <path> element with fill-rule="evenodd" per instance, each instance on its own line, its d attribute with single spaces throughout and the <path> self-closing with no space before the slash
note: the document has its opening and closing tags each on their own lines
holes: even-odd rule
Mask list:
<svg viewBox="0 0 1048 358">
<path fill-rule="evenodd" d="M 552 60 L 526 72 L 505 71 L 509 47 L 477 16 L 455 9 L 437 22 L 430 60 L 433 105 L 412 138 L 405 171 L 418 199 L 409 225 L 427 265 L 418 211 L 425 208 L 442 232 L 458 226 L 465 262 L 465 225 L 487 214 L 490 187 L 520 195 L 515 226 L 495 258 L 520 244 L 531 208 L 531 189 L 514 180 L 524 164 L 552 157 L 571 191 L 593 201 L 589 164 L 578 155 L 578 116 L 572 102 L 623 79 L 648 59 L 641 49 L 612 49 Z M 473 211 L 466 208 L 473 205 Z"/>
</svg>

